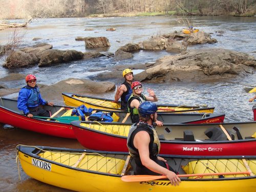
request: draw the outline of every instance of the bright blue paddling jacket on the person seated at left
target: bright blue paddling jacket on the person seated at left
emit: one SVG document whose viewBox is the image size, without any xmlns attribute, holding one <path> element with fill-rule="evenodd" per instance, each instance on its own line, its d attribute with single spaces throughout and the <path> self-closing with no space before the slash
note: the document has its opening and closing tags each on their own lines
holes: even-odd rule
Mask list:
<svg viewBox="0 0 256 192">
<path fill-rule="evenodd" d="M 25 115 L 29 114 L 28 107 L 34 108 L 39 104 L 45 105 L 46 103 L 47 101 L 42 99 L 39 88 L 37 86 L 34 88 L 25 86 L 20 89 L 18 93 L 17 107 L 20 111 L 23 111 Z"/>
</svg>

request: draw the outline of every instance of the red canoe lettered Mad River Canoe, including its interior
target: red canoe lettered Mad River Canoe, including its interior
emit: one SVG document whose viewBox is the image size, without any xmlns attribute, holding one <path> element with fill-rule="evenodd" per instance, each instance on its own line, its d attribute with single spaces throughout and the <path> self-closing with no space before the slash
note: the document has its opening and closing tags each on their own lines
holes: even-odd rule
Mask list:
<svg viewBox="0 0 256 192">
<path fill-rule="evenodd" d="M 84 147 L 99 151 L 127 152 L 126 139 L 131 124 L 99 124 L 98 122 L 84 121 L 73 121 L 71 124 L 77 140 Z M 250 137 L 256 131 L 256 122 L 222 123 L 221 125 L 234 140 L 228 141 L 220 129 L 220 124 L 217 123 L 164 124 L 162 127 L 156 127 L 161 141 L 160 154 L 256 155 L 256 139 Z"/>
</svg>

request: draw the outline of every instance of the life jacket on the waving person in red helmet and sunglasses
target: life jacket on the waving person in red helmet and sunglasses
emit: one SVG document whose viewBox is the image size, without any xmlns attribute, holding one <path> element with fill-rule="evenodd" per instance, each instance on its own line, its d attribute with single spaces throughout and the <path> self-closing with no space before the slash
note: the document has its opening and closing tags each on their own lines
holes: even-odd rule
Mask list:
<svg viewBox="0 0 256 192">
<path fill-rule="evenodd" d="M 140 120 L 139 118 L 139 111 L 137 108 L 132 108 L 131 107 L 131 102 L 134 100 L 134 99 L 137 99 L 139 100 L 140 103 L 143 103 L 146 101 L 146 97 L 141 94 L 140 96 L 134 96 L 133 94 L 130 96 L 130 98 L 128 99 L 128 102 L 127 102 L 127 107 L 128 107 L 128 112 L 131 113 L 131 120 L 133 123 L 136 123 Z"/>
</svg>

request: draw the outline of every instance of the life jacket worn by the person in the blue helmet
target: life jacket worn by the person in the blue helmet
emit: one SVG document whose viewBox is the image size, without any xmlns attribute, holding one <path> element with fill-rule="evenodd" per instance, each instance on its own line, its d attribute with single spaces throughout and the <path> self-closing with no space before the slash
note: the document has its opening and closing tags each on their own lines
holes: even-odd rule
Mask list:
<svg viewBox="0 0 256 192">
<path fill-rule="evenodd" d="M 150 135 L 150 144 L 149 144 L 149 151 L 150 151 L 150 158 L 154 159 L 159 154 L 160 151 L 160 141 L 157 135 L 156 130 L 153 126 L 148 125 L 144 122 L 135 123 L 131 126 L 131 129 L 129 131 L 128 137 L 127 137 L 127 147 L 129 150 L 129 153 L 132 157 L 134 157 L 135 161 L 142 165 L 140 161 L 139 151 L 137 148 L 135 148 L 133 141 L 135 135 L 140 131 L 146 131 Z"/>
</svg>

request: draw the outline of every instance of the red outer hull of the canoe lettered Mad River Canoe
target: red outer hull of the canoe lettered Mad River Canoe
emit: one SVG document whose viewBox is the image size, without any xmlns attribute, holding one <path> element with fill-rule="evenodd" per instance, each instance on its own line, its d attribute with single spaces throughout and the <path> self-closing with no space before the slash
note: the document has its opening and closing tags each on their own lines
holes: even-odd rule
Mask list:
<svg viewBox="0 0 256 192">
<path fill-rule="evenodd" d="M 80 126 L 80 121 L 73 121 L 72 128 L 76 139 L 78 142 L 91 150 L 99 150 L 99 151 L 119 151 L 119 152 L 127 152 L 127 137 L 119 136 L 115 134 L 109 134 L 93 129 L 89 129 L 88 127 Z M 255 123 L 249 123 L 250 126 L 254 126 Z M 175 126 L 179 125 L 164 125 L 164 127 L 168 127 L 170 130 L 175 130 Z M 195 130 L 198 128 L 200 130 L 200 124 L 190 124 L 190 125 L 182 125 L 187 126 L 185 130 Z M 192 126 L 190 128 L 190 126 Z M 210 125 L 204 124 L 201 126 L 207 127 L 215 127 L 218 124 Z M 224 127 L 241 127 L 238 124 L 231 123 L 223 123 Z M 246 125 L 245 125 L 246 126 Z M 197 128 L 196 128 L 197 127 Z M 158 134 L 164 134 L 162 129 L 158 129 Z M 179 129 L 179 127 L 178 127 Z M 182 128 L 180 128 L 182 129 Z M 241 128 L 242 129 L 242 128 Z M 177 129 L 176 129 L 177 130 Z M 182 129 L 184 130 L 184 129 Z M 256 131 L 254 129 L 254 131 Z M 197 131 L 194 131 L 195 134 Z M 251 133 L 254 133 L 253 131 Z M 250 133 L 250 134 L 251 134 Z M 180 131 L 180 135 L 182 136 L 183 132 Z M 255 147 L 256 147 L 256 139 L 244 139 L 244 140 L 233 140 L 233 141 L 177 141 L 177 140 L 160 140 L 161 149 L 160 154 L 169 154 L 169 155 L 193 155 L 193 156 L 236 156 L 236 155 L 256 155 Z"/>
</svg>

